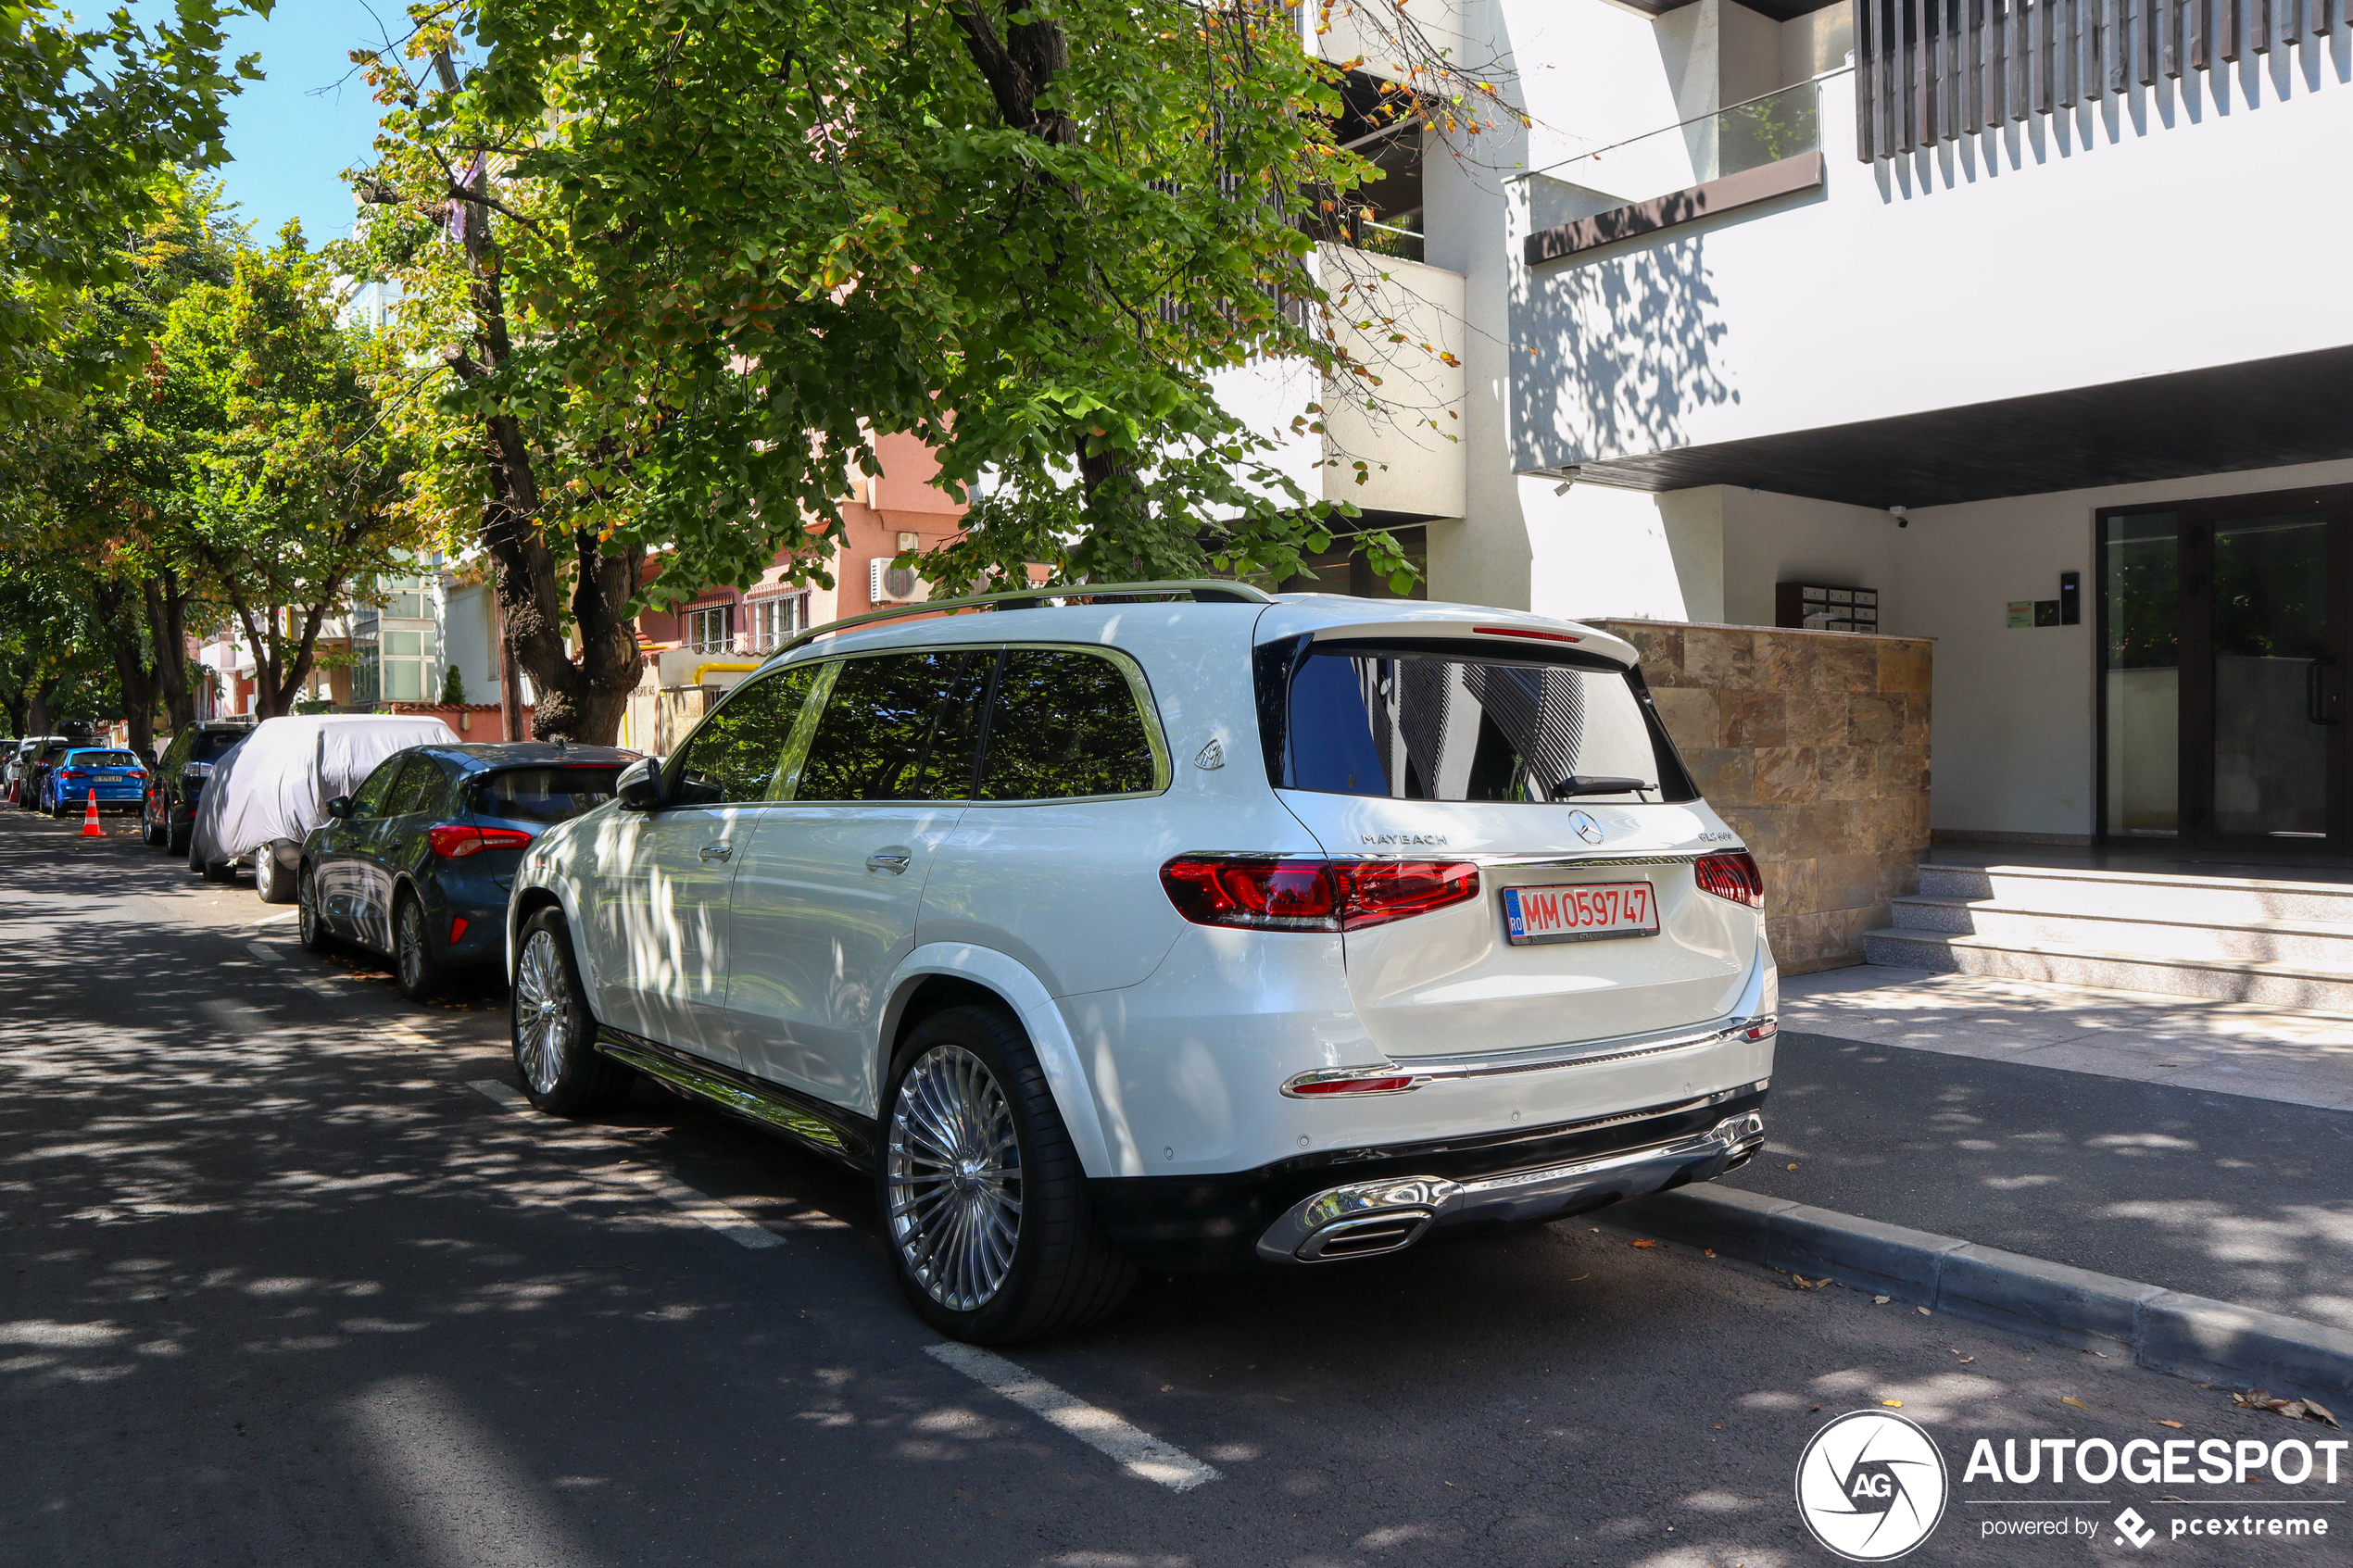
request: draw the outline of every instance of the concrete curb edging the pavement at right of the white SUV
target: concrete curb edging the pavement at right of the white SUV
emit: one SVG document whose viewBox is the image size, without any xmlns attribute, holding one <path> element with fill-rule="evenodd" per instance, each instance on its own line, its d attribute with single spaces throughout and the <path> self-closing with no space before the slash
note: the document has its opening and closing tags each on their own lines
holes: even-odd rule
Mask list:
<svg viewBox="0 0 2353 1568">
<path fill-rule="evenodd" d="M 1607 1211 L 1612 1225 L 1784 1274 L 1835 1279 L 2035 1340 L 2129 1354 L 2195 1382 L 2353 1394 L 2353 1333 L 2071 1269 L 1998 1246 L 1882 1225 L 1739 1187 L 1680 1187 Z"/>
</svg>

